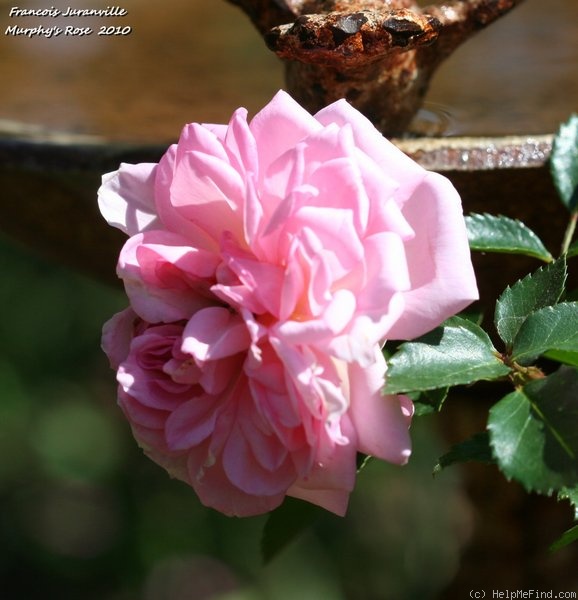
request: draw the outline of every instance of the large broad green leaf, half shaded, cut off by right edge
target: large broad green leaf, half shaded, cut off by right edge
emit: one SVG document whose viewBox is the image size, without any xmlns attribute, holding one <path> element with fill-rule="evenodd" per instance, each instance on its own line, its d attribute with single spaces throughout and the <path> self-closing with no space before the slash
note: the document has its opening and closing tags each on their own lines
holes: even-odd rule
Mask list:
<svg viewBox="0 0 578 600">
<path fill-rule="evenodd" d="M 501 471 L 528 491 L 578 484 L 578 370 L 561 367 L 490 410 L 490 445 Z"/>
</svg>

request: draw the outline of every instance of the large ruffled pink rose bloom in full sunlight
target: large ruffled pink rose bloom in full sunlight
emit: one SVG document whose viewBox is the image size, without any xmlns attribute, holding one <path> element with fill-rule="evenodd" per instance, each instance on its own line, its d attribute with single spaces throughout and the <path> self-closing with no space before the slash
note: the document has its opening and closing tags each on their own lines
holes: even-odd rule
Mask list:
<svg viewBox="0 0 578 600">
<path fill-rule="evenodd" d="M 356 455 L 404 464 L 381 347 L 478 297 L 460 198 L 345 100 L 279 92 L 103 177 L 130 308 L 103 347 L 144 452 L 228 515 L 343 515 Z M 416 365 L 419 368 L 419 365 Z"/>
</svg>

